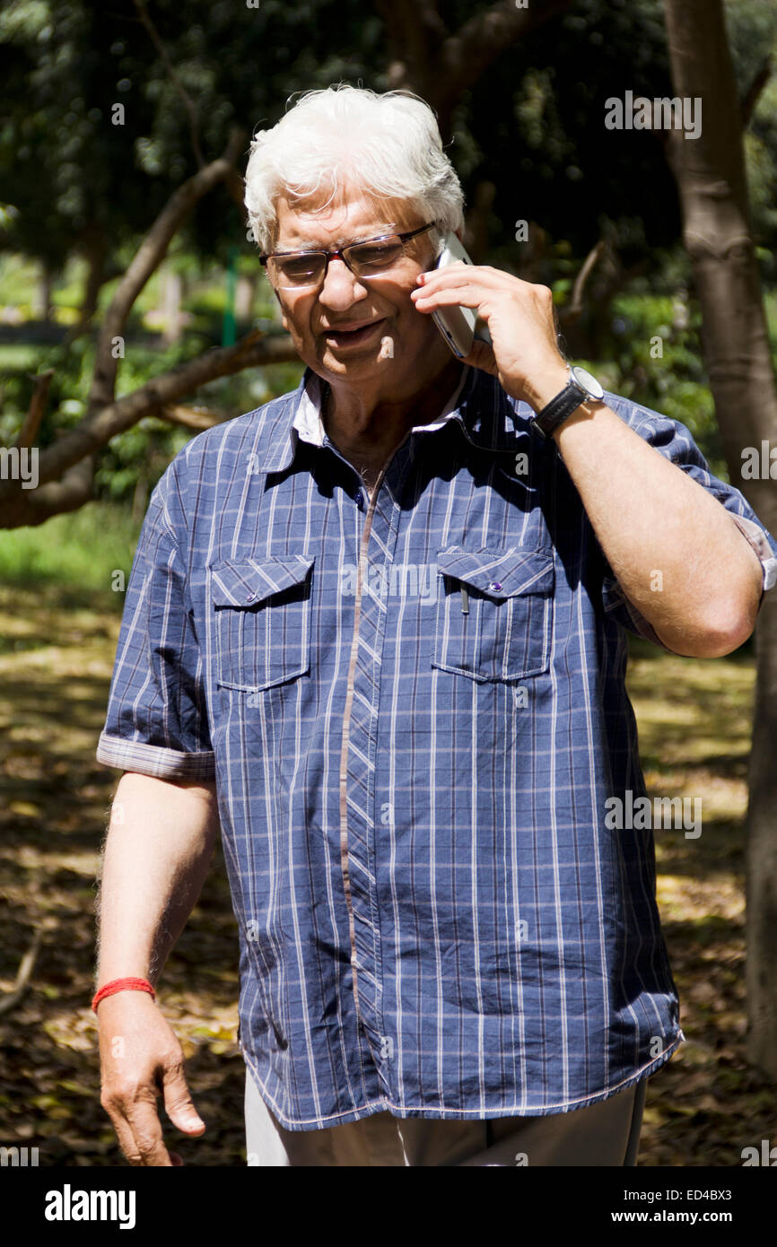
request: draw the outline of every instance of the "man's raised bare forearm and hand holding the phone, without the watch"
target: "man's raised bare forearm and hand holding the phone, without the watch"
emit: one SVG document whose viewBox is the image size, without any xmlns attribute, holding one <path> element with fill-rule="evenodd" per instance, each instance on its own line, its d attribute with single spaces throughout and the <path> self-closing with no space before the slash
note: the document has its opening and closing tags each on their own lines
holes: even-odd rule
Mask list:
<svg viewBox="0 0 777 1247">
<path fill-rule="evenodd" d="M 499 269 L 449 264 L 410 294 L 429 315 L 476 308 L 490 344 L 465 363 L 541 412 L 565 389 L 553 292 Z M 553 434 L 624 594 L 677 653 L 718 657 L 753 630 L 761 561 L 726 509 L 606 404 L 589 402 Z"/>
</svg>

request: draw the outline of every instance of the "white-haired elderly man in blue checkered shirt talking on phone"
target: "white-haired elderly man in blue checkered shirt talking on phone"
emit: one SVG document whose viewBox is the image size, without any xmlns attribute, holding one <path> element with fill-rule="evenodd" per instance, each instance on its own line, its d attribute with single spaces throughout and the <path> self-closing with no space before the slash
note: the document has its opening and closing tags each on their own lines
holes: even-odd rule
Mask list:
<svg viewBox="0 0 777 1247">
<path fill-rule="evenodd" d="M 634 1165 L 683 1035 L 626 630 L 731 652 L 777 544 L 687 429 L 570 374 L 550 291 L 435 269 L 463 200 L 422 101 L 312 92 L 246 181 L 307 368 L 143 525 L 97 753 L 127 772 L 102 1102 L 133 1163 L 180 1163 L 157 1089 L 205 1130 L 153 984 L 221 823 L 248 1163 Z M 490 335 L 461 359 L 455 307 Z"/>
</svg>

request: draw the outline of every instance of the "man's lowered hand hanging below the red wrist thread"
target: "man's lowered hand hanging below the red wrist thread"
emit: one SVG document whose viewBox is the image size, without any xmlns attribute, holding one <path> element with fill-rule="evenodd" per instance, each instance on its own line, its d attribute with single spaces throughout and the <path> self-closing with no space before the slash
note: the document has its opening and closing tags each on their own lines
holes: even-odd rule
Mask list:
<svg viewBox="0 0 777 1247">
<path fill-rule="evenodd" d="M 97 1005 L 102 1094 L 130 1165 L 182 1165 L 162 1141 L 157 1096 L 173 1126 L 202 1135 L 183 1074 L 183 1051 L 160 1008 L 145 991 L 117 991 Z"/>
</svg>

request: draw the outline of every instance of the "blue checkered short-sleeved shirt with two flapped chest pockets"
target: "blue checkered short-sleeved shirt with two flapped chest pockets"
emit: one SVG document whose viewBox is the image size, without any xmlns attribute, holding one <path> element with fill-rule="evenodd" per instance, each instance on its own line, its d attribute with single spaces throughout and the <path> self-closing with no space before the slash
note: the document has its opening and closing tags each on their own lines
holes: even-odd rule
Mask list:
<svg viewBox="0 0 777 1247">
<path fill-rule="evenodd" d="M 688 430 L 605 398 L 770 589 Z M 661 642 L 531 414 L 464 369 L 370 500 L 307 370 L 152 495 L 97 758 L 216 781 L 241 1046 L 291 1130 L 565 1112 L 685 1038 L 654 832 L 605 823 L 645 793 L 627 630 Z"/>
</svg>

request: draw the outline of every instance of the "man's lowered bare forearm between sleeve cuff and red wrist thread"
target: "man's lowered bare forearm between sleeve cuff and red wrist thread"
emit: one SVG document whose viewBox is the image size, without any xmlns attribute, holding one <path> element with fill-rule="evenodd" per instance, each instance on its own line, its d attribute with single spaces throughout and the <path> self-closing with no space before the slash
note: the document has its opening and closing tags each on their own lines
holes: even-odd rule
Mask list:
<svg viewBox="0 0 777 1247">
<path fill-rule="evenodd" d="M 156 983 L 200 895 L 217 832 L 215 784 L 121 777 L 102 867 L 99 986 L 127 975 Z"/>
</svg>

